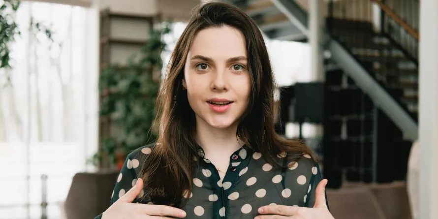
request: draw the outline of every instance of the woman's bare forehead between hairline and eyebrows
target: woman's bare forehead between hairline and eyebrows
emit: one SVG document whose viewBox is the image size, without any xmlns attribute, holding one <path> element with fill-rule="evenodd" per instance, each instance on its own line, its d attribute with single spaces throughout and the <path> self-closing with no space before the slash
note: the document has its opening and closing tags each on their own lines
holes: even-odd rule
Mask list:
<svg viewBox="0 0 438 219">
<path fill-rule="evenodd" d="M 202 55 L 212 59 L 246 56 L 243 33 L 229 26 L 207 28 L 196 33 L 189 56 Z"/>
</svg>

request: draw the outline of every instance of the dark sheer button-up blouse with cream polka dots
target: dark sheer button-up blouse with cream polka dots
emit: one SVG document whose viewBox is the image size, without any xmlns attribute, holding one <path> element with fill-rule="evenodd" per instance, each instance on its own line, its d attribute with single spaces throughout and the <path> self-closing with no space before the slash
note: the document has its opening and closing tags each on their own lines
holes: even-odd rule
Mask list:
<svg viewBox="0 0 438 219">
<path fill-rule="evenodd" d="M 111 204 L 122 197 L 136 182 L 143 160 L 153 146 L 130 153 L 117 179 Z M 286 154 L 277 158 L 290 163 Z M 182 209 L 188 219 L 253 219 L 257 209 L 265 205 L 313 207 L 315 188 L 322 180 L 319 165 L 304 154 L 289 168 L 274 168 L 260 153 L 243 146 L 230 156 L 230 165 L 221 181 L 215 166 L 198 149 L 198 169 L 193 188 L 186 194 L 188 203 Z M 134 202 L 154 204 L 141 192 Z M 95 219 L 100 219 L 101 215 Z"/>
</svg>

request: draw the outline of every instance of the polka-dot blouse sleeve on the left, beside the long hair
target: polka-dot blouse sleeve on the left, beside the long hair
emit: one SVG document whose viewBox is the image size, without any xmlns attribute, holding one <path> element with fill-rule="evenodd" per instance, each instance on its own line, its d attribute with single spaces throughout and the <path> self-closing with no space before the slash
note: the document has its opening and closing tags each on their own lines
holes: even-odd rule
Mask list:
<svg viewBox="0 0 438 219">
<path fill-rule="evenodd" d="M 138 162 L 138 160 L 135 159 L 133 162 L 130 155 L 126 157 L 111 196 L 111 205 L 119 200 L 120 197 L 124 196 L 125 193 L 137 183 L 137 174 L 133 165 L 138 166 L 138 163 L 136 164 L 135 162 Z M 137 200 L 134 200 L 133 202 L 137 202 Z"/>
</svg>

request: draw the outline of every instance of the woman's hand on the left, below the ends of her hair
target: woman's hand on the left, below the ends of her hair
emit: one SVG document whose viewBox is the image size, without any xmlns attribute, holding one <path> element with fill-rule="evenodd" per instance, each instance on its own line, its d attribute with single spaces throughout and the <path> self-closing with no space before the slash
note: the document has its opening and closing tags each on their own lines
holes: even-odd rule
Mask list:
<svg viewBox="0 0 438 219">
<path fill-rule="evenodd" d="M 165 205 L 131 203 L 142 188 L 143 180 L 138 179 L 133 188 L 103 213 L 102 219 L 170 219 L 168 217 L 186 217 L 186 212 L 178 208 Z"/>
</svg>

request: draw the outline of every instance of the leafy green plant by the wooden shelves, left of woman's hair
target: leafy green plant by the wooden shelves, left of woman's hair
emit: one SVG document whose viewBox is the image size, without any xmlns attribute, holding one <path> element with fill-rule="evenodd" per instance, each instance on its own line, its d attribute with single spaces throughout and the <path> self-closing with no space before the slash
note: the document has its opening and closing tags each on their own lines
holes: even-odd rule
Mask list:
<svg viewBox="0 0 438 219">
<path fill-rule="evenodd" d="M 111 64 L 102 70 L 99 116 L 109 120 L 117 133 L 101 137 L 101 147 L 93 157 L 95 165 L 106 162 L 104 166 L 121 168 L 129 152 L 156 140 L 151 130 L 162 68 L 160 54 L 165 48 L 162 36 L 169 32 L 168 23 L 153 29 L 139 57 L 132 57 L 125 66 Z"/>
</svg>

